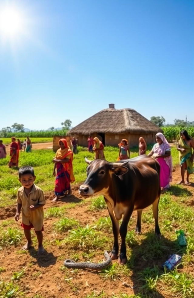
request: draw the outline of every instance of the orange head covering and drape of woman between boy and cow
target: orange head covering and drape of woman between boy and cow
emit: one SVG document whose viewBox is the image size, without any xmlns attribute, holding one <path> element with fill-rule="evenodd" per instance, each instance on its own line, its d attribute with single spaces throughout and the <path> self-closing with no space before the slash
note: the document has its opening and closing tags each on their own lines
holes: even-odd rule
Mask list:
<svg viewBox="0 0 194 298">
<path fill-rule="evenodd" d="M 63 142 L 65 148 L 64 149 L 59 148 L 57 150 L 56 155 L 55 155 L 55 159 L 65 159 L 65 157 L 67 157 L 67 156 L 69 157 L 69 162 L 63 163 L 62 165 L 70 175 L 70 182 L 74 182 L 75 177 L 74 177 L 74 174 L 73 174 L 73 166 L 72 166 L 73 152 L 69 148 L 66 139 L 60 139 L 59 142 Z"/>
</svg>

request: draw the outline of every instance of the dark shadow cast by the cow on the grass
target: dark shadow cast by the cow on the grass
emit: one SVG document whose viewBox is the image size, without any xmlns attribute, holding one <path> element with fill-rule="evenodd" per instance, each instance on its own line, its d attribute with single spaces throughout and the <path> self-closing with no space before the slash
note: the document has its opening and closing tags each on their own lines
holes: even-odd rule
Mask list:
<svg viewBox="0 0 194 298">
<path fill-rule="evenodd" d="M 132 270 L 134 294 L 138 294 L 141 298 L 166 298 L 166 295 L 163 296 L 152 287 L 154 284 L 152 279 L 157 281 L 164 274 L 162 264 L 170 255 L 176 253 L 182 256 L 186 252 L 186 247 L 180 247 L 177 240 L 171 241 L 163 236 L 159 239 L 154 233 L 149 232 L 145 235 L 147 237 L 140 245 L 130 248 L 131 257 L 126 264 Z"/>
</svg>

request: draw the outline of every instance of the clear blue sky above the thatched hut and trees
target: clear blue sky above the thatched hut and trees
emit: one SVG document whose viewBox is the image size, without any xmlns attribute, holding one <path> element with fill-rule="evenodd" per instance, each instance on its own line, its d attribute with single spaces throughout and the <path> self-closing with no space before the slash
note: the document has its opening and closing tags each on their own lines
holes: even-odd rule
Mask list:
<svg viewBox="0 0 194 298">
<path fill-rule="evenodd" d="M 0 39 L 0 129 L 75 126 L 109 103 L 194 121 L 194 1 L 5 3 L 26 23 Z"/>
</svg>

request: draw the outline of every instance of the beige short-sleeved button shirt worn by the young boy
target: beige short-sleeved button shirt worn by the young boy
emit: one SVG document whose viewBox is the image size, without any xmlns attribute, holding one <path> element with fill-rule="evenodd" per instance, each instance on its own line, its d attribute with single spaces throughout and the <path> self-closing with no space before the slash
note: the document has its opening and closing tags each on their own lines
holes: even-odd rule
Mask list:
<svg viewBox="0 0 194 298">
<path fill-rule="evenodd" d="M 16 203 L 22 204 L 22 223 L 27 226 L 33 224 L 35 231 L 41 231 L 43 226 L 43 207 L 30 211 L 31 205 L 45 205 L 45 198 L 42 189 L 33 184 L 31 192 L 28 196 L 25 194 L 24 187 L 20 187 L 17 193 Z"/>
</svg>

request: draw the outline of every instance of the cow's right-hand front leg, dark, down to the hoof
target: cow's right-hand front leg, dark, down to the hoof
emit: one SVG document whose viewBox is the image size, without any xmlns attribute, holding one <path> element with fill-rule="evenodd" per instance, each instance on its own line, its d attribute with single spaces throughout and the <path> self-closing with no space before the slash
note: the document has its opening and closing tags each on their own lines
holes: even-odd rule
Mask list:
<svg viewBox="0 0 194 298">
<path fill-rule="evenodd" d="M 127 235 L 127 226 L 128 226 L 129 219 L 131 217 L 132 212 L 133 212 L 133 206 L 130 207 L 129 210 L 125 211 L 123 220 L 122 220 L 122 224 L 121 224 L 120 230 L 119 230 L 119 233 L 121 236 L 121 251 L 120 251 L 120 255 L 119 255 L 119 263 L 121 265 L 124 265 L 127 263 L 125 239 L 126 239 L 126 235 Z"/>
</svg>

